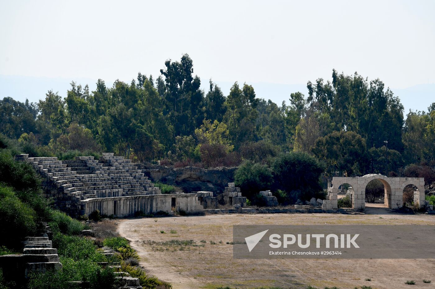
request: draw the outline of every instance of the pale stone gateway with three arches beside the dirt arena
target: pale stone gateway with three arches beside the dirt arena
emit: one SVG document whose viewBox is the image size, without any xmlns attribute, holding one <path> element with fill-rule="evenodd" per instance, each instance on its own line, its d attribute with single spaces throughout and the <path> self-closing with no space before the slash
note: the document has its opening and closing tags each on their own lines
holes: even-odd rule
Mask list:
<svg viewBox="0 0 435 289">
<path fill-rule="evenodd" d="M 353 189 L 352 208 L 365 209 L 365 187 L 374 180 L 379 179 L 384 184 L 385 204 L 390 209 L 398 209 L 403 205 L 403 189 L 405 186 L 414 185 L 417 190 L 414 192 L 414 203 L 422 207 L 425 203 L 425 179 L 424 178 L 389 178 L 387 176 L 368 174 L 365 176 L 333 177 L 331 187 L 328 188 L 328 209 L 337 208 L 337 189 L 341 184 L 349 184 Z"/>
</svg>

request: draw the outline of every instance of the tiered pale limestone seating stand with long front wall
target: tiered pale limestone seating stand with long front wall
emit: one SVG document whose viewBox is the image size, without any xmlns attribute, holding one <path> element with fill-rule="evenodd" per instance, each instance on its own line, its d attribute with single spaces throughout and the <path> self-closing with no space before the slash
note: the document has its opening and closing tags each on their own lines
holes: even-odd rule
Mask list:
<svg viewBox="0 0 435 289">
<path fill-rule="evenodd" d="M 79 156 L 60 161 L 56 157 L 29 158 L 27 154 L 15 159 L 33 165 L 43 177 L 45 195 L 71 216 L 89 215 L 96 209 L 119 217 L 137 211 L 170 213 L 174 206 L 187 213 L 202 211 L 195 194 L 161 195 L 130 159 L 113 153 L 103 153 L 99 160 Z"/>
</svg>

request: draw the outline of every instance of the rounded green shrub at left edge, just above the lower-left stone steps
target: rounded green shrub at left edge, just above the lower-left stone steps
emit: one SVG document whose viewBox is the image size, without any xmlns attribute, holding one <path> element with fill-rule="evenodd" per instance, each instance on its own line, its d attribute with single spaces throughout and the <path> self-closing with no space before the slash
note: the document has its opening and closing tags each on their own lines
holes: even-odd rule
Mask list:
<svg viewBox="0 0 435 289">
<path fill-rule="evenodd" d="M 26 236 L 36 233 L 36 212 L 13 192 L 12 188 L 0 185 L 0 245 L 9 248 L 20 246 L 20 241 Z"/>
</svg>

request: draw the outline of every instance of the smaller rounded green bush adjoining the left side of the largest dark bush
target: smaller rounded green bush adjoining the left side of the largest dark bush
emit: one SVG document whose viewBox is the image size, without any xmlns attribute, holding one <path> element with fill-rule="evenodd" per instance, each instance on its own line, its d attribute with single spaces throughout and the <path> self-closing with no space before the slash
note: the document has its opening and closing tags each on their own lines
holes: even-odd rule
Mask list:
<svg viewBox="0 0 435 289">
<path fill-rule="evenodd" d="M 246 161 L 234 173 L 234 183 L 240 187 L 243 196 L 247 197 L 253 205 L 261 199 L 257 197 L 262 190 L 270 189 L 273 182 L 272 172 L 267 165 Z"/>
</svg>

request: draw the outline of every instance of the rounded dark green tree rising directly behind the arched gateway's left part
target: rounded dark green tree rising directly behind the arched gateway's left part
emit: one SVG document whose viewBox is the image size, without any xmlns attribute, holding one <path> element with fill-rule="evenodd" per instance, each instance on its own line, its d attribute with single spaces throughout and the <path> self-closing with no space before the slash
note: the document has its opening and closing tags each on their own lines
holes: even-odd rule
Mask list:
<svg viewBox="0 0 435 289">
<path fill-rule="evenodd" d="M 331 175 L 339 172 L 341 176 L 351 176 L 365 172 L 365 140 L 357 133 L 335 131 L 318 138 L 311 151 L 318 159 L 325 161 Z"/>
</svg>

